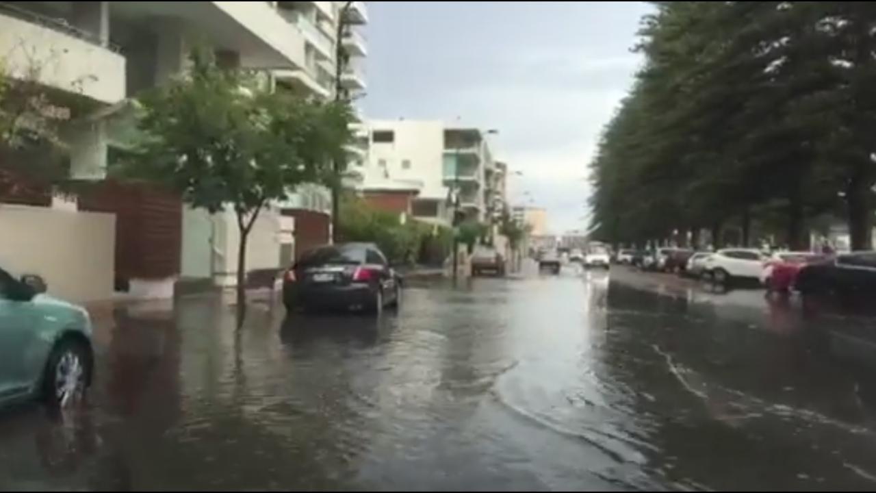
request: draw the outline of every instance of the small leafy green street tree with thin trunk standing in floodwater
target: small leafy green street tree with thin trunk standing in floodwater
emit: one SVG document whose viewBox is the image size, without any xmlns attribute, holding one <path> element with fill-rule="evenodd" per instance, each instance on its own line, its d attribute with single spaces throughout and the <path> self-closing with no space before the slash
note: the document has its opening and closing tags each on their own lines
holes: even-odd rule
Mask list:
<svg viewBox="0 0 876 493">
<path fill-rule="evenodd" d="M 165 183 L 183 201 L 237 218 L 237 306 L 245 311 L 247 239 L 258 214 L 295 185 L 330 176 L 349 139 L 345 104 L 261 89 L 250 74 L 217 68 L 195 52 L 193 67 L 142 97 L 138 159 L 126 172 Z"/>
</svg>

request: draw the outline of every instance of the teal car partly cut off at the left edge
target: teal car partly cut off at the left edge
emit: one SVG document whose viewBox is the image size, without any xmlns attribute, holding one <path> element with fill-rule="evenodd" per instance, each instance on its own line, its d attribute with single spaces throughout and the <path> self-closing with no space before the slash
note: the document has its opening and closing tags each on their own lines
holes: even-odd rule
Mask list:
<svg viewBox="0 0 876 493">
<path fill-rule="evenodd" d="M 45 291 L 39 276 L 18 280 L 0 268 L 0 404 L 39 398 L 67 408 L 91 382 L 88 311 Z"/>
</svg>

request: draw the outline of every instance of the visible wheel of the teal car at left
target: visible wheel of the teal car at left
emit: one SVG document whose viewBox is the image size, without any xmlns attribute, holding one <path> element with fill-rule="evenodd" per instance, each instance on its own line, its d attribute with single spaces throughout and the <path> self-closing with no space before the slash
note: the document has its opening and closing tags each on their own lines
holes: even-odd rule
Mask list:
<svg viewBox="0 0 876 493">
<path fill-rule="evenodd" d="M 88 347 L 75 339 L 61 339 L 53 348 L 43 375 L 43 397 L 53 409 L 68 409 L 85 399 L 91 372 Z"/>
</svg>

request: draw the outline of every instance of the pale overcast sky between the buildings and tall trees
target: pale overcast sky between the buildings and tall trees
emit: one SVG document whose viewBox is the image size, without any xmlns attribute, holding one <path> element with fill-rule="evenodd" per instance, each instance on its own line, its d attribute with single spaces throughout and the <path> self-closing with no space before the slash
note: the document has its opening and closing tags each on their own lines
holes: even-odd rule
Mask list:
<svg viewBox="0 0 876 493">
<path fill-rule="evenodd" d="M 498 129 L 512 204 L 583 228 L 587 165 L 639 66 L 643 3 L 368 2 L 368 118 Z M 525 196 L 524 191 L 529 195 Z M 530 198 L 531 197 L 531 198 Z"/>
</svg>

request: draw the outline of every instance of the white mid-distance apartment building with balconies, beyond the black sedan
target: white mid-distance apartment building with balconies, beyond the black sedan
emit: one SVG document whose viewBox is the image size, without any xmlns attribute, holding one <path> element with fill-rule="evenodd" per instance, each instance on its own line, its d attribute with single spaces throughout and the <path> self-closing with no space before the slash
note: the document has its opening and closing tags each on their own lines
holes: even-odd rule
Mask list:
<svg viewBox="0 0 876 493">
<path fill-rule="evenodd" d="M 364 193 L 413 189 L 413 217 L 442 225 L 452 223 L 457 201 L 463 218 L 477 221 L 504 204 L 506 167 L 493 160 L 485 132 L 437 120 L 369 120 L 366 127 Z"/>
</svg>

